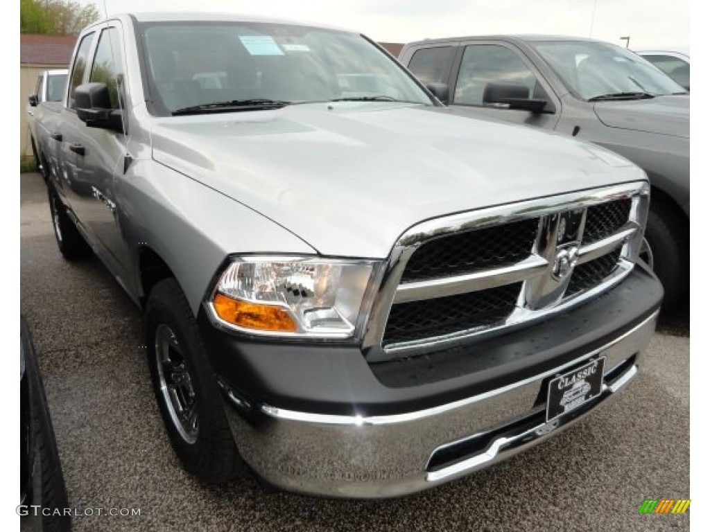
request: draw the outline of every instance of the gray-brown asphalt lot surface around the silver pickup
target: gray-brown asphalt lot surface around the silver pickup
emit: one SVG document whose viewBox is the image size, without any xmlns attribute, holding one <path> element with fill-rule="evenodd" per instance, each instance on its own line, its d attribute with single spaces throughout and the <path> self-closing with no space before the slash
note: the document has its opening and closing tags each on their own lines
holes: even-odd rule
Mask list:
<svg viewBox="0 0 710 532">
<path fill-rule="evenodd" d="M 664 317 L 645 372 L 616 401 L 537 448 L 430 492 L 342 501 L 267 492 L 251 478 L 204 487 L 180 468 L 163 431 L 138 348 L 138 309 L 98 260 L 62 260 L 43 182 L 23 174 L 21 183 L 21 306 L 70 505 L 141 509 L 75 517 L 76 531 L 689 528 L 689 514 L 637 514 L 643 499 L 689 494 L 687 312 Z"/>
</svg>

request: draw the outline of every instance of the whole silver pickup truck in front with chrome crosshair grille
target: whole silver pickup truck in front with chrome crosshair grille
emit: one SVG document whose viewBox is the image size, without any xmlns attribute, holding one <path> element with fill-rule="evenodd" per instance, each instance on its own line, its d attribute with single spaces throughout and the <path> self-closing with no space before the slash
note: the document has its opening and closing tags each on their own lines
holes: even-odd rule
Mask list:
<svg viewBox="0 0 710 532">
<path fill-rule="evenodd" d="M 145 313 L 168 436 L 206 482 L 416 492 L 643 365 L 645 173 L 453 116 L 359 33 L 116 16 L 82 32 L 46 118 L 60 251 L 90 247 Z"/>
</svg>

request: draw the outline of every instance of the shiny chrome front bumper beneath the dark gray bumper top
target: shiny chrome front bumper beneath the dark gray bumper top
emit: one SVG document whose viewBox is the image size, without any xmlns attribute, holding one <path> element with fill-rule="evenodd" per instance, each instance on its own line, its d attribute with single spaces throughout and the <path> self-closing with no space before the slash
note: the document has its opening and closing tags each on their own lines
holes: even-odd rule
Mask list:
<svg viewBox="0 0 710 532">
<path fill-rule="evenodd" d="M 398 497 L 504 460 L 586 416 L 638 374 L 656 319 L 652 314 L 602 348 L 554 370 L 426 410 L 333 416 L 261 404 L 247 422 L 237 413 L 244 404 L 233 398 L 225 411 L 244 460 L 276 487 L 327 497 Z M 601 395 L 580 412 L 546 423 L 543 384 L 595 355 L 606 356 Z M 466 451 L 469 442 L 474 452 Z M 459 459 L 435 458 L 454 447 L 464 450 Z"/>
</svg>

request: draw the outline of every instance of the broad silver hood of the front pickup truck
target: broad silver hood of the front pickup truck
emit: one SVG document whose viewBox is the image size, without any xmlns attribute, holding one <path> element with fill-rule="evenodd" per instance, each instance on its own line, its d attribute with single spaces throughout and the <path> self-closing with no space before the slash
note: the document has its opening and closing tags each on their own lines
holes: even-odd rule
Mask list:
<svg viewBox="0 0 710 532">
<path fill-rule="evenodd" d="M 428 218 L 645 179 L 595 145 L 412 104 L 160 118 L 151 143 L 156 161 L 323 255 L 386 257 L 401 233 Z"/>
</svg>

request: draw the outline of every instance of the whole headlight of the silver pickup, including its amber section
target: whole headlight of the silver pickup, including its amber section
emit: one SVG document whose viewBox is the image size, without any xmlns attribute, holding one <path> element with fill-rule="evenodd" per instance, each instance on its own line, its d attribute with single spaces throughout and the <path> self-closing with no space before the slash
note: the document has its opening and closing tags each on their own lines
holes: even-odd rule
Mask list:
<svg viewBox="0 0 710 532">
<path fill-rule="evenodd" d="M 210 304 L 240 331 L 349 338 L 375 263 L 300 257 L 242 257 L 217 282 Z"/>
</svg>

